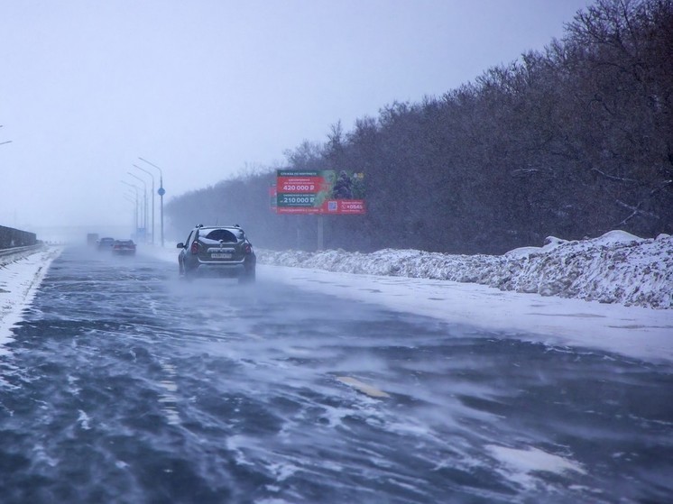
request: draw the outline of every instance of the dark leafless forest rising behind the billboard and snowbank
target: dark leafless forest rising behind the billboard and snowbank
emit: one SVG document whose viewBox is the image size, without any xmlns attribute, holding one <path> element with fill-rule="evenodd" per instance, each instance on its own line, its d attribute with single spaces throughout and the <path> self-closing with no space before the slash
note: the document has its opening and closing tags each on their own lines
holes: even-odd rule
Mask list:
<svg viewBox="0 0 673 504">
<path fill-rule="evenodd" d="M 447 64 L 447 63 L 445 63 Z M 561 40 L 474 82 L 393 103 L 284 166 L 174 197 L 173 234 L 243 225 L 258 247 L 313 250 L 316 215 L 276 215 L 277 169 L 364 172 L 366 215 L 326 215 L 325 248 L 502 253 L 549 235 L 673 234 L 673 0 L 597 0 Z"/>
</svg>

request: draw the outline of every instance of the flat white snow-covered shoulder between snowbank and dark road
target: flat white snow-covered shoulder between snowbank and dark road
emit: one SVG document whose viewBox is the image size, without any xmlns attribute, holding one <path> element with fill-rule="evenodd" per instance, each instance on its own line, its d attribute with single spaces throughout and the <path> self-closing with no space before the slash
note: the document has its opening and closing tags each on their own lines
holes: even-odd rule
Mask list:
<svg viewBox="0 0 673 504">
<path fill-rule="evenodd" d="M 378 304 L 449 324 L 552 346 L 574 345 L 673 362 L 673 310 L 502 292 L 447 280 L 393 278 L 258 265 L 258 280 Z"/>
</svg>

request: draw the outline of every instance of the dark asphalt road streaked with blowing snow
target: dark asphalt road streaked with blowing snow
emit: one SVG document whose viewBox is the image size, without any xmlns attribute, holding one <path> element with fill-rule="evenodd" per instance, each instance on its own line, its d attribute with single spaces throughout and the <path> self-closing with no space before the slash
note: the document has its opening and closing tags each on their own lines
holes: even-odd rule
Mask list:
<svg viewBox="0 0 673 504">
<path fill-rule="evenodd" d="M 5 348 L 3 503 L 673 501 L 668 365 L 83 249 Z"/>
</svg>

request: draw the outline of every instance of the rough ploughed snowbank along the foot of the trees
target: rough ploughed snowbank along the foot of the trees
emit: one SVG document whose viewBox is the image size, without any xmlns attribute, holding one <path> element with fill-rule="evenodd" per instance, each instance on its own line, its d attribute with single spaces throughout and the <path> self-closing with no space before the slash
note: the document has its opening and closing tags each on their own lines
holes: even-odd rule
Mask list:
<svg viewBox="0 0 673 504">
<path fill-rule="evenodd" d="M 419 279 L 477 283 L 501 290 L 650 308 L 673 307 L 673 238 L 643 239 L 623 231 L 494 255 L 449 255 L 414 250 L 372 253 L 257 252 L 258 261 Z"/>
</svg>

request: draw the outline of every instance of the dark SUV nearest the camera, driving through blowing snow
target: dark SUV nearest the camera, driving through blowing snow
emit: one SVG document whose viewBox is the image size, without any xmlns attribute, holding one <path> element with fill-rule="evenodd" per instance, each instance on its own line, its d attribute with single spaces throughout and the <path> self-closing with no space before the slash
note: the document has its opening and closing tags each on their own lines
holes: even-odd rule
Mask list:
<svg viewBox="0 0 673 504">
<path fill-rule="evenodd" d="M 254 281 L 257 258 L 253 244 L 240 225 L 198 225 L 191 230 L 185 243 L 178 243 L 180 275 L 192 277 L 206 272 L 238 281 Z"/>
</svg>

